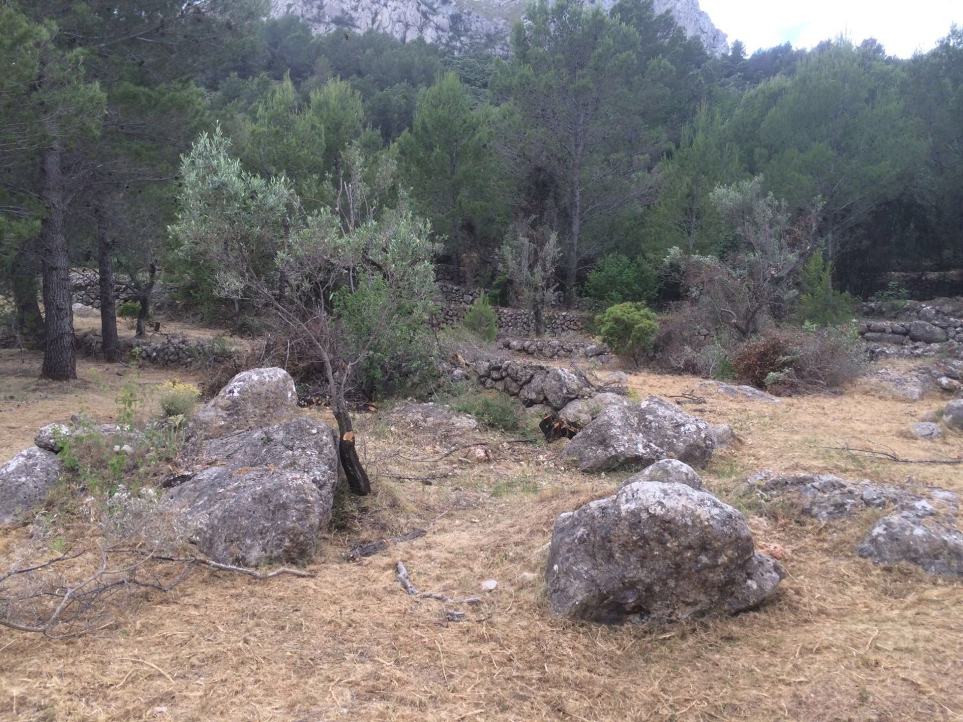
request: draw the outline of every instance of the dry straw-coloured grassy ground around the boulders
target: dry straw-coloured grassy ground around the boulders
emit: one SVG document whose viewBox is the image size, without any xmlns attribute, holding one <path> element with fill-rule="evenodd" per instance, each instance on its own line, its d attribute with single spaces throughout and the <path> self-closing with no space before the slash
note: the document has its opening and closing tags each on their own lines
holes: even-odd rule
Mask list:
<svg viewBox="0 0 963 722">
<path fill-rule="evenodd" d="M 81 406 L 109 420 L 129 377 L 84 364 L 82 380 L 54 387 L 34 380 L 35 361 L 17 363 L 0 358 L 0 459 L 28 445 L 39 425 Z M 165 377 L 142 371 L 138 383 L 148 388 Z M 698 381 L 631 376 L 641 396 L 679 397 Z M 554 619 L 542 581 L 554 520 L 612 493 L 621 476 L 562 469 L 556 455 L 564 442 L 536 447 L 485 432 L 426 445 L 382 410 L 359 420 L 377 494 L 342 513 L 308 568 L 314 578 L 196 572 L 84 637 L 0 631 L 0 719 L 963 718 L 963 582 L 857 557 L 855 542 L 872 514 L 820 525 L 765 513 L 740 495 L 745 477 L 763 468 L 963 492 L 958 466 L 817 448 L 874 442 L 909 458 L 957 455 L 963 436 L 920 441 L 907 433 L 945 400 L 891 399 L 867 382 L 840 396 L 779 404 L 702 396 L 685 408 L 733 425 L 743 439 L 716 453 L 702 475 L 707 487 L 746 512 L 757 545 L 785 552 L 789 577 L 757 611 L 666 628 Z M 471 445 L 466 453 L 447 453 L 463 445 Z M 475 445 L 488 450 L 488 462 L 473 462 Z M 426 485 L 398 477 L 431 478 Z M 428 529 L 420 539 L 360 563 L 345 559 L 359 540 L 419 527 Z M 404 593 L 395 580 L 399 560 L 419 589 L 481 595 L 481 606 L 467 607 L 469 621 L 447 622 L 443 603 Z M 534 583 L 525 572 L 536 574 Z M 488 579 L 499 585 L 484 594 Z"/>
</svg>

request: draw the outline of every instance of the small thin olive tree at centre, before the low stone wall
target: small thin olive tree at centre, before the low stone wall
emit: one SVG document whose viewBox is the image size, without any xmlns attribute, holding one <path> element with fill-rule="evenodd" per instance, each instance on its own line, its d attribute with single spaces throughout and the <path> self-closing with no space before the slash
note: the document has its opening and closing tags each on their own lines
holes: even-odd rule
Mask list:
<svg viewBox="0 0 963 722">
<path fill-rule="evenodd" d="M 555 267 L 560 255 L 557 233 L 523 222 L 512 226 L 499 249 L 499 270 L 511 281 L 518 300 L 532 312 L 535 336 L 544 331 L 545 308 L 558 287 Z"/>
</svg>

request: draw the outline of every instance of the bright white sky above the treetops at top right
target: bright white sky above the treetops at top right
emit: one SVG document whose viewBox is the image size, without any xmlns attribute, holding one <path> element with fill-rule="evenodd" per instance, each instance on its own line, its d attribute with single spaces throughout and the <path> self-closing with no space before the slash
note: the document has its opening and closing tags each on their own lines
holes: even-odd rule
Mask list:
<svg viewBox="0 0 963 722">
<path fill-rule="evenodd" d="M 781 45 L 812 47 L 843 34 L 853 42 L 879 40 L 890 55 L 908 58 L 929 50 L 963 25 L 963 0 L 700 0 L 729 42 L 742 40 L 752 54 Z"/>
</svg>

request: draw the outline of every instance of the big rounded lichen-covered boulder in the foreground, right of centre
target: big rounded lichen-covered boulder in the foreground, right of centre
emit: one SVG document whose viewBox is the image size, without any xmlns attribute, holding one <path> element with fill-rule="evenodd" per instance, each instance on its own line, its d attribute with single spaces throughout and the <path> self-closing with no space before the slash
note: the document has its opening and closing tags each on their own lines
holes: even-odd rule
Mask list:
<svg viewBox="0 0 963 722">
<path fill-rule="evenodd" d="M 742 514 L 685 484 L 639 481 L 556 521 L 553 613 L 664 624 L 759 606 L 785 577 L 755 552 Z"/>
</svg>

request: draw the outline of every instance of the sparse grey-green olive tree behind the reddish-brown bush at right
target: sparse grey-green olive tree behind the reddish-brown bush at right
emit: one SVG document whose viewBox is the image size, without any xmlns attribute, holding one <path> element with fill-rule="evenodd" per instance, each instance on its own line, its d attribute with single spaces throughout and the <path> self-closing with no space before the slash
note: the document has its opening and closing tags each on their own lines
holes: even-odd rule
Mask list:
<svg viewBox="0 0 963 722">
<path fill-rule="evenodd" d="M 799 272 L 820 248 L 819 203 L 794 215 L 785 201 L 763 192 L 763 182 L 757 176 L 712 193 L 734 234 L 729 252 L 721 258 L 683 256 L 673 248 L 668 257 L 701 316 L 731 327 L 741 338 L 758 332 L 765 320 L 787 315 Z"/>
</svg>

